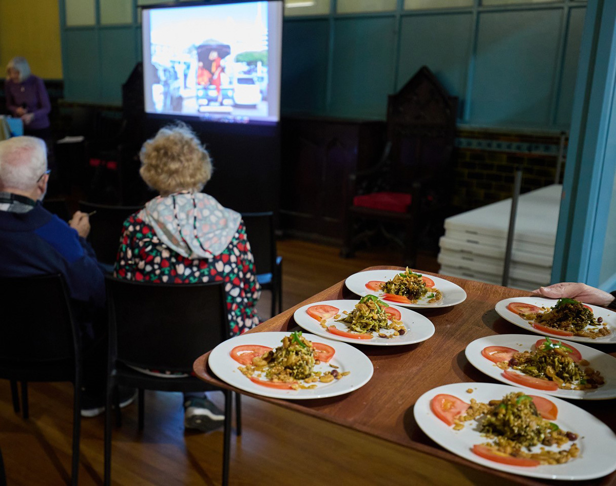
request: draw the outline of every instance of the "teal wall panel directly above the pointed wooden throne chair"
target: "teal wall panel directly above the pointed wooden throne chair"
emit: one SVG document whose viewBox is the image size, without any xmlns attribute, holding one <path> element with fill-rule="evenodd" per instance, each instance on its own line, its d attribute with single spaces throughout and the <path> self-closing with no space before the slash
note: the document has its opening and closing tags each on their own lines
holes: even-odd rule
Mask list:
<svg viewBox="0 0 616 486">
<path fill-rule="evenodd" d="M 404 86 L 419 68 L 426 65 L 448 92 L 463 95 L 471 44 L 471 14 L 426 14 L 402 18 L 395 89 Z M 461 110 L 461 103 L 459 108 Z"/>
</svg>

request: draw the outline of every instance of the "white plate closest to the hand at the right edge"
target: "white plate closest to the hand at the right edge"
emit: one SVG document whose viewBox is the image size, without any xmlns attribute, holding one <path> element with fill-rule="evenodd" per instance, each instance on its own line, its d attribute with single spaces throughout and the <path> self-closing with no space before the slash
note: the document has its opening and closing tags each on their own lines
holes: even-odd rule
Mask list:
<svg viewBox="0 0 616 486">
<path fill-rule="evenodd" d="M 505 320 L 508 320 L 512 324 L 521 327 L 526 331 L 530 331 L 531 333 L 541 334 L 541 336 L 546 336 L 548 333 L 545 331 L 540 331 L 538 329 L 533 328 L 532 321 L 527 321 L 522 319 L 515 312 L 511 312 L 511 310 L 507 309 L 507 306 L 511 304 L 511 302 L 522 302 L 524 304 L 532 304 L 537 307 L 554 307 L 557 299 L 545 299 L 543 297 L 512 297 L 511 299 L 503 299 L 500 302 L 496 303 L 494 309 L 498 312 L 498 315 Z M 588 305 L 588 304 L 585 304 Z M 575 342 L 588 342 L 591 344 L 616 344 L 616 314 L 614 310 L 604 309 L 599 306 L 591 306 L 588 305 L 591 309 L 593 309 L 594 317 L 602 317 L 605 322 L 607 322 L 607 327 L 609 328 L 611 333 L 607 334 L 607 336 L 603 336 L 601 338 L 584 338 L 582 336 L 559 336 L 558 334 L 549 333 L 550 338 L 557 339 L 567 339 L 567 341 L 575 341 Z"/>
</svg>

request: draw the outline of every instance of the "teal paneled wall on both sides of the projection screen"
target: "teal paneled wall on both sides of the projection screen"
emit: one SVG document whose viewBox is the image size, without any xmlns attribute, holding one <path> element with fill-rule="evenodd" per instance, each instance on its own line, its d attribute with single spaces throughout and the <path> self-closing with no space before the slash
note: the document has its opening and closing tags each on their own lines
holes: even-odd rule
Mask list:
<svg viewBox="0 0 616 486">
<path fill-rule="evenodd" d="M 67 99 L 120 105 L 141 57 L 137 12 L 126 26 L 67 27 L 59 1 Z M 383 119 L 387 95 L 427 65 L 458 96 L 461 123 L 569 128 L 585 1 L 423 11 L 398 3 L 395 12 L 286 17 L 283 115 Z"/>
</svg>

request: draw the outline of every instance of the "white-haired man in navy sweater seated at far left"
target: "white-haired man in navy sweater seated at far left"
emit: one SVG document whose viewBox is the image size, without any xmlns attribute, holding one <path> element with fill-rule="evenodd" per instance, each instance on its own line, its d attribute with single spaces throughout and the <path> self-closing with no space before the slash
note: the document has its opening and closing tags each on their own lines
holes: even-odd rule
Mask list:
<svg viewBox="0 0 616 486">
<path fill-rule="evenodd" d="M 86 241 L 88 215 L 77 211 L 67 224 L 41 206 L 48 181 L 43 140 L 14 137 L 0 142 L 0 275 L 63 275 L 87 351 L 81 415 L 95 416 L 105 410 L 107 338 L 104 322 L 95 318 L 104 315 L 105 278 Z M 132 401 L 132 392 L 121 395 L 120 405 Z"/>
</svg>

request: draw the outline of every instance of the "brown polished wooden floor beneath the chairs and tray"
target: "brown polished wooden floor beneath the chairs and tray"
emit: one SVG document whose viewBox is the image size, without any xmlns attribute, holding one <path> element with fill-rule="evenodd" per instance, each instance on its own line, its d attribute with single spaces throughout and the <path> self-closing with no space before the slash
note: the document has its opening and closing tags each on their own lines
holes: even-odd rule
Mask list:
<svg viewBox="0 0 616 486">
<path fill-rule="evenodd" d="M 338 248 L 280 241 L 285 308 L 378 264 L 399 264 L 391 251 L 340 259 Z M 436 272 L 434 256 L 420 256 L 418 269 Z M 269 293 L 259 310 L 269 317 Z M 9 486 L 62 485 L 70 481 L 70 384 L 30 384 L 30 419 L 12 409 L 7 381 L 0 381 L 0 448 Z M 222 394 L 214 400 L 222 407 Z M 113 435 L 112 480 L 117 485 L 221 484 L 222 431 L 184 431 L 181 395 L 146 392 L 145 431 L 137 431 L 137 408 L 124 408 Z M 319 419 L 243 397 L 243 434 L 232 437 L 230 484 L 408 485 L 480 484 L 472 471 Z M 83 419 L 80 485 L 102 484 L 103 417 Z"/>
</svg>

